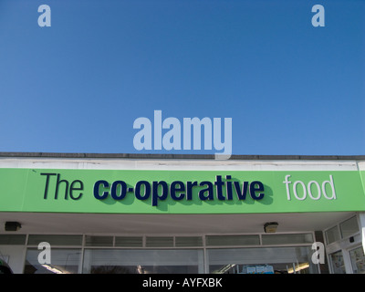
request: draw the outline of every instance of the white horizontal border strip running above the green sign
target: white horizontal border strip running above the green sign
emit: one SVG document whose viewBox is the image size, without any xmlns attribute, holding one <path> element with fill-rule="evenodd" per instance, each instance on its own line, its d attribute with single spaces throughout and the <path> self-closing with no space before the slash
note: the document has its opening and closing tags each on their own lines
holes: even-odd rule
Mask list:
<svg viewBox="0 0 365 292">
<path fill-rule="evenodd" d="M 196 160 L 1 158 L 0 168 L 168 171 L 359 171 L 365 162 L 348 160 Z"/>
</svg>

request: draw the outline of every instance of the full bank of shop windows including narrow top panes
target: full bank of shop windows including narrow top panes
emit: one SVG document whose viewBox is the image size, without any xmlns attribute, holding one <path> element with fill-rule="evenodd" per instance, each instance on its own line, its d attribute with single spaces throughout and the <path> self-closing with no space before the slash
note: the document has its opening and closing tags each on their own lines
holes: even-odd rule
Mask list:
<svg viewBox="0 0 365 292">
<path fill-rule="evenodd" d="M 51 264 L 40 265 L 39 250 L 29 246 L 26 252 L 25 273 L 318 273 L 318 266 L 311 261 L 311 233 L 141 237 L 85 235 L 83 238 L 75 236 L 77 235 L 53 235 L 51 238 L 49 235 L 29 235 L 29 243 L 52 239 L 55 247 L 52 248 Z M 278 245 L 278 242 L 282 245 Z M 84 244 L 77 248 L 77 243 Z M 68 248 L 65 245 L 73 246 Z"/>
</svg>

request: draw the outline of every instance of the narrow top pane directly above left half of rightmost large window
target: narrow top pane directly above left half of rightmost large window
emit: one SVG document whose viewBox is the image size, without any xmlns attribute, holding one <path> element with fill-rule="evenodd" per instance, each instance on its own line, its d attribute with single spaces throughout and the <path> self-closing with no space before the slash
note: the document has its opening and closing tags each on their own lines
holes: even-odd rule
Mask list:
<svg viewBox="0 0 365 292">
<path fill-rule="evenodd" d="M 259 245 L 260 238 L 258 235 L 208 235 L 206 236 L 206 245 L 223 246 L 223 245 Z"/>
</svg>

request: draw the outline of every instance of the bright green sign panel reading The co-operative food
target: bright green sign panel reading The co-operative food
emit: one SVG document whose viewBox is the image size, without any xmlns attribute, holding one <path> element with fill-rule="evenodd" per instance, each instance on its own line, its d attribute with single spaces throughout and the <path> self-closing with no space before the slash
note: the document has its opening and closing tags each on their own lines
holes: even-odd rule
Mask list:
<svg viewBox="0 0 365 292">
<path fill-rule="evenodd" d="M 364 172 L 0 169 L 0 212 L 365 211 Z"/>
</svg>

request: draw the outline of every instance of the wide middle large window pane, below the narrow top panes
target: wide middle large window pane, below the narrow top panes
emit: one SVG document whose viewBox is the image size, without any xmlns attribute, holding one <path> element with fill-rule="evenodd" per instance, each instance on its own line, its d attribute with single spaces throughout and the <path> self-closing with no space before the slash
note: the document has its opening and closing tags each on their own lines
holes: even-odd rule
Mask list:
<svg viewBox="0 0 365 292">
<path fill-rule="evenodd" d="M 203 250 L 86 249 L 85 274 L 203 273 Z"/>
</svg>

